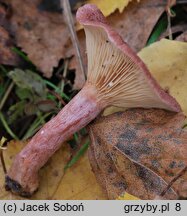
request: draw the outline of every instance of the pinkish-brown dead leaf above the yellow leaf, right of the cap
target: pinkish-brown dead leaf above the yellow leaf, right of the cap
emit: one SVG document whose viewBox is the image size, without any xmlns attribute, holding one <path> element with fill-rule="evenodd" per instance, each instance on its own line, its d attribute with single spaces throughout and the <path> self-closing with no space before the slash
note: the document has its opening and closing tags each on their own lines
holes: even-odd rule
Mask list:
<svg viewBox="0 0 187 216">
<path fill-rule="evenodd" d="M 145 47 L 146 42 L 165 10 L 162 0 L 132 1 L 123 13 L 108 17 L 109 23 L 118 30 L 122 38 L 136 52 Z"/>
</svg>

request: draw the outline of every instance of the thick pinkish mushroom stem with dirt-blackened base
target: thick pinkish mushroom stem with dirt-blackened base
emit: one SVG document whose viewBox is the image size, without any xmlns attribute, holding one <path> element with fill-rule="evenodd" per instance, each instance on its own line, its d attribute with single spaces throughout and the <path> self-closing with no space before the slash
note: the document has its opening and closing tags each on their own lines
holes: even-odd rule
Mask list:
<svg viewBox="0 0 187 216">
<path fill-rule="evenodd" d="M 6 189 L 23 196 L 38 188 L 38 171 L 74 132 L 93 120 L 103 109 L 96 89 L 86 84 L 57 116 L 51 119 L 15 157 L 6 177 Z"/>
</svg>

